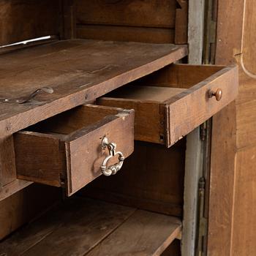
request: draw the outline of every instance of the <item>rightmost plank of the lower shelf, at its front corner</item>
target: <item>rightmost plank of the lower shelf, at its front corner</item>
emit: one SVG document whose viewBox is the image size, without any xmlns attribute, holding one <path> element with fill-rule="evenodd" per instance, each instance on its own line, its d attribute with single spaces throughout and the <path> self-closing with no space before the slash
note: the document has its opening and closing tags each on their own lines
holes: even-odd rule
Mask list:
<svg viewBox="0 0 256 256">
<path fill-rule="evenodd" d="M 87 255 L 157 256 L 180 234 L 179 219 L 138 210 Z"/>
</svg>

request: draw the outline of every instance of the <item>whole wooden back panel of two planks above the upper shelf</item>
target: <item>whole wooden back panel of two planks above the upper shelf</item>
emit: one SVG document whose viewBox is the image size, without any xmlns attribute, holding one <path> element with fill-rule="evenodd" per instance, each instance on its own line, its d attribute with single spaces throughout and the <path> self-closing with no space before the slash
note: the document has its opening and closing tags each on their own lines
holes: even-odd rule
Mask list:
<svg viewBox="0 0 256 256">
<path fill-rule="evenodd" d="M 176 0 L 75 0 L 75 4 L 79 38 L 173 43 L 176 31 L 187 22 L 184 9 L 176 10 Z M 178 41 L 181 43 L 181 39 Z"/>
</svg>

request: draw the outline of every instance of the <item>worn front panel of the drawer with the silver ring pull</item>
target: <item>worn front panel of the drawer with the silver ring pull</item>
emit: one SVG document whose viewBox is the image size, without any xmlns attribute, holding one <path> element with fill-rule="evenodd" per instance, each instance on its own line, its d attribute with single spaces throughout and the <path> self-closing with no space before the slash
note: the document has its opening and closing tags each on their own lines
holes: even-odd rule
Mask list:
<svg viewBox="0 0 256 256">
<path fill-rule="evenodd" d="M 109 155 L 102 149 L 102 139 L 116 143 L 116 151 L 124 157 L 134 149 L 134 112 L 120 113 L 102 120 L 95 127 L 85 128 L 65 142 L 67 153 L 67 194 L 72 195 L 102 174 L 100 167 Z M 111 160 L 110 160 L 111 161 Z M 112 164 L 118 162 L 114 157 Z M 121 170 L 120 170 L 121 172 Z"/>
</svg>

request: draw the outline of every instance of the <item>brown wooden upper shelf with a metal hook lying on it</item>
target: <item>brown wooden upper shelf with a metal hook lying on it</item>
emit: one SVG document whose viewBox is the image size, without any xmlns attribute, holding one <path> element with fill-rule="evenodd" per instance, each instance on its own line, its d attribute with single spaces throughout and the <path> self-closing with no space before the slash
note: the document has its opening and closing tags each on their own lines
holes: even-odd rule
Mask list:
<svg viewBox="0 0 256 256">
<path fill-rule="evenodd" d="M 0 98 L 20 99 L 50 86 L 24 104 L 0 103 L 0 137 L 96 99 L 187 56 L 186 45 L 72 39 L 0 56 Z"/>
</svg>

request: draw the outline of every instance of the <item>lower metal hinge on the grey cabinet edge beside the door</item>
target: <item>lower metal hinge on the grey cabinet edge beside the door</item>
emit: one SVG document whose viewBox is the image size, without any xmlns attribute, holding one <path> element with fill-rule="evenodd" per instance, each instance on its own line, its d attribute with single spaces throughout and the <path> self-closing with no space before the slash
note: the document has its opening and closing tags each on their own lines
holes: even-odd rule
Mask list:
<svg viewBox="0 0 256 256">
<path fill-rule="evenodd" d="M 198 186 L 198 236 L 196 256 L 205 255 L 204 240 L 207 235 L 207 219 L 205 213 L 206 179 L 201 177 Z"/>
</svg>

